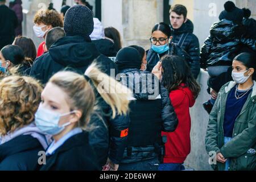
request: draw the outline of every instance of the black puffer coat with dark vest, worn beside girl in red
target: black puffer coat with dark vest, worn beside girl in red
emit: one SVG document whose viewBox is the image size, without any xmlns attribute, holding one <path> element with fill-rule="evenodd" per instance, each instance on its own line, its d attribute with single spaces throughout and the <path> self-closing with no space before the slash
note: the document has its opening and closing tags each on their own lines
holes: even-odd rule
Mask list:
<svg viewBox="0 0 256 182">
<path fill-rule="evenodd" d="M 161 131 L 172 132 L 178 123 L 167 89 L 152 73 L 139 69 L 124 69 L 121 81 L 133 90 L 135 99 L 130 103 L 131 123 L 121 163 L 159 157 Z"/>
</svg>

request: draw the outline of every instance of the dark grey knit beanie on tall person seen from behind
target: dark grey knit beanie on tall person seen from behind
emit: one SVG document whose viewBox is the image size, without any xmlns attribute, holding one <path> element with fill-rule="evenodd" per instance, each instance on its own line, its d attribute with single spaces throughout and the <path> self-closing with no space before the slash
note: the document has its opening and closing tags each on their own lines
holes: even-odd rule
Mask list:
<svg viewBox="0 0 256 182">
<path fill-rule="evenodd" d="M 64 31 L 67 36 L 80 35 L 90 41 L 89 35 L 93 32 L 93 14 L 84 5 L 74 5 L 68 9 L 64 18 Z"/>
</svg>

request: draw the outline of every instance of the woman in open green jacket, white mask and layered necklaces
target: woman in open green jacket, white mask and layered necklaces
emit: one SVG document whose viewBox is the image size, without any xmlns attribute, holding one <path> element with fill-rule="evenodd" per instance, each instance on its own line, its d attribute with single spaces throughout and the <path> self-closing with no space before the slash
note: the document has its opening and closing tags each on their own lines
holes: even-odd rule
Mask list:
<svg viewBox="0 0 256 182">
<path fill-rule="evenodd" d="M 256 169 L 255 62 L 255 56 L 245 52 L 234 58 L 234 81 L 222 86 L 209 115 L 205 148 L 211 159 L 215 154 L 215 170 Z"/>
</svg>

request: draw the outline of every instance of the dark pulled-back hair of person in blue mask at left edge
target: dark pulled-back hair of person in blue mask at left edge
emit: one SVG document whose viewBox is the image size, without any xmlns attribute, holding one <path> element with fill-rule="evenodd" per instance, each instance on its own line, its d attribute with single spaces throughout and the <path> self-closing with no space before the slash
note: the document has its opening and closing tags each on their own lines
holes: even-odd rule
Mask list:
<svg viewBox="0 0 256 182">
<path fill-rule="evenodd" d="M 1 53 L 6 61 L 11 61 L 14 65 L 22 64 L 25 59 L 22 48 L 16 45 L 3 47 Z"/>
</svg>

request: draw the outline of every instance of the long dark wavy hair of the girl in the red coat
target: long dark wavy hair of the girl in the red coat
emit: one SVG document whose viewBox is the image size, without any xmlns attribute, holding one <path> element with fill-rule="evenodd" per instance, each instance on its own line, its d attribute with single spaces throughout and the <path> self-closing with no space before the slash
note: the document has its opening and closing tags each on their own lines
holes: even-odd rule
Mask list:
<svg viewBox="0 0 256 182">
<path fill-rule="evenodd" d="M 188 64 L 179 56 L 164 56 L 162 58 L 162 84 L 169 92 L 176 90 L 181 83 L 191 89 L 196 99 L 200 92 L 200 85 L 192 76 Z"/>
</svg>

